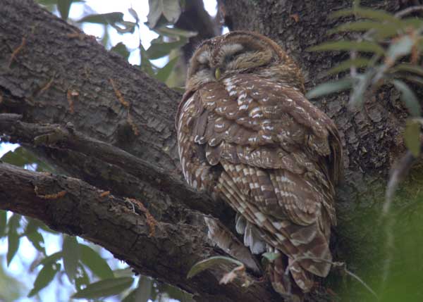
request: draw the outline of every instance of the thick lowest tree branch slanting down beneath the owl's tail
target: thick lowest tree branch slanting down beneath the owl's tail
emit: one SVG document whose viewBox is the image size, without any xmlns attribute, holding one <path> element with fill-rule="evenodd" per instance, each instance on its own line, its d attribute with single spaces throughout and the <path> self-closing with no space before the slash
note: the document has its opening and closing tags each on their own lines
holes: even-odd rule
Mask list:
<svg viewBox="0 0 423 302">
<path fill-rule="evenodd" d="M 58 232 L 78 235 L 100 244 L 137 272 L 170 282 L 200 295 L 197 301 L 278 301 L 266 282 L 242 280 L 223 286 L 219 279 L 232 268 L 219 265 L 186 281 L 197 261 L 219 255 L 206 239 L 202 225 L 154 221 L 151 225 L 136 202 L 104 195 L 104 191 L 73 177 L 23 170 L 0 163 L 0 208 L 42 220 Z M 142 201 L 140 201 L 142 202 Z M 133 213 L 132 206 L 135 208 Z M 188 213 L 192 217 L 203 216 Z"/>
</svg>

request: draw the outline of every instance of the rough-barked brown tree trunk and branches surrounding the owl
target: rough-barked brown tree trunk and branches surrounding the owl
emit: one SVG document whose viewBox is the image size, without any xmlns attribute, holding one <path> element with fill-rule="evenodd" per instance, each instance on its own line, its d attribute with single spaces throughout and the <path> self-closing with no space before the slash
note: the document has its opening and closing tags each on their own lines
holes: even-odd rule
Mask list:
<svg viewBox="0 0 423 302">
<path fill-rule="evenodd" d="M 387 11 L 405 6 L 399 0 L 364 4 Z M 304 70 L 307 89 L 345 59 L 307 48 L 345 21 L 327 17 L 350 1 L 221 0 L 219 6 L 231 30 L 256 30 L 287 49 Z M 186 279 L 197 261 L 225 254 L 207 239 L 204 216 L 231 225 L 234 213 L 181 177 L 174 129 L 179 92 L 30 0 L 1 0 L 0 39 L 0 130 L 55 169 L 38 173 L 0 163 L 1 209 L 104 246 L 136 272 L 195 294 L 196 301 L 280 301 L 269 282 L 252 275 L 219 284 L 228 264 Z M 397 99 L 386 88 L 353 113 L 345 93 L 315 102 L 335 120 L 345 144 L 336 258 L 353 269 L 364 264 L 374 285 L 385 251 L 382 232 L 369 222 L 384 200 L 388 170 L 405 151 L 407 114 Z M 403 200 L 410 196 L 420 198 L 415 187 Z M 325 288 L 341 287 L 340 275 L 331 276 L 309 301 L 326 301 Z M 341 290 L 357 301 L 360 287 Z"/>
</svg>

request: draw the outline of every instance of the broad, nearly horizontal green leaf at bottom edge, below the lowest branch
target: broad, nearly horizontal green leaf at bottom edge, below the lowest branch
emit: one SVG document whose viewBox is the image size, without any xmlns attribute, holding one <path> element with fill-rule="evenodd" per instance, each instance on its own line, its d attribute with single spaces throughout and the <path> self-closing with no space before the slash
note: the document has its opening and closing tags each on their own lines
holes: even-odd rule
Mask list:
<svg viewBox="0 0 423 302">
<path fill-rule="evenodd" d="M 122 291 L 128 289 L 134 282 L 132 277 L 104 279 L 87 285 L 85 289 L 81 289 L 73 294 L 72 298 L 102 298 L 121 294 Z"/>
</svg>

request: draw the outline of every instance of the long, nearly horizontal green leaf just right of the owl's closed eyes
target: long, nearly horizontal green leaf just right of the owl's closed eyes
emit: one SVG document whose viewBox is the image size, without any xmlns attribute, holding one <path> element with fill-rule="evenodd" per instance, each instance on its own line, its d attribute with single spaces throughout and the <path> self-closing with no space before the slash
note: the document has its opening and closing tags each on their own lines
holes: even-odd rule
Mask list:
<svg viewBox="0 0 423 302">
<path fill-rule="evenodd" d="M 336 41 L 336 42 L 325 42 L 317 46 L 312 46 L 307 51 L 363 51 L 372 52 L 375 54 L 383 55 L 385 53 L 383 47 L 379 44 L 369 41 Z"/>
</svg>

